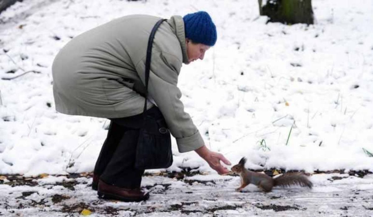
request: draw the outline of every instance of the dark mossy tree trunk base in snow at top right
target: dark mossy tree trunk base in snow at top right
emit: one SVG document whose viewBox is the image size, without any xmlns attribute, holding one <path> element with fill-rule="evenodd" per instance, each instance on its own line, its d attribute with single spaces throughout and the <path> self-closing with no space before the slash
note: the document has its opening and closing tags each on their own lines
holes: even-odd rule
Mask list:
<svg viewBox="0 0 373 217">
<path fill-rule="evenodd" d="M 267 0 L 264 6 L 261 2 L 258 0 L 260 15 L 268 16 L 269 22 L 313 24 L 311 0 Z"/>
</svg>

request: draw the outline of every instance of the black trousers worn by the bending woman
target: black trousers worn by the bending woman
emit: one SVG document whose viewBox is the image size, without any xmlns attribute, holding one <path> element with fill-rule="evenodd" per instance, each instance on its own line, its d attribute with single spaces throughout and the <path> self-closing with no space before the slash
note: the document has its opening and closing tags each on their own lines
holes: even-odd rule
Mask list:
<svg viewBox="0 0 373 217">
<path fill-rule="evenodd" d="M 152 114 L 154 108 L 147 113 Z M 134 167 L 142 114 L 110 119 L 106 140 L 98 156 L 94 174 L 110 185 L 121 188 L 140 188 L 144 170 Z"/>
</svg>

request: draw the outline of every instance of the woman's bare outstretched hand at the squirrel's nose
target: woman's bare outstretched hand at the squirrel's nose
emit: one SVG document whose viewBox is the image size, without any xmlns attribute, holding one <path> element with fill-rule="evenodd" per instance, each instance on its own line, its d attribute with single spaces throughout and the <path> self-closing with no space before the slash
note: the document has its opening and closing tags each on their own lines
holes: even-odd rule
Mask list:
<svg viewBox="0 0 373 217">
<path fill-rule="evenodd" d="M 229 160 L 227 160 L 222 154 L 210 151 L 208 148 L 206 148 L 205 145 L 195 150 L 195 152 L 197 152 L 198 155 L 206 160 L 206 162 L 209 163 L 210 167 L 216 170 L 216 172 L 220 175 L 229 173 L 229 170 L 224 167 L 220 163 L 220 161 L 223 161 L 223 163 L 227 165 L 231 165 L 231 162 L 229 162 Z"/>
</svg>

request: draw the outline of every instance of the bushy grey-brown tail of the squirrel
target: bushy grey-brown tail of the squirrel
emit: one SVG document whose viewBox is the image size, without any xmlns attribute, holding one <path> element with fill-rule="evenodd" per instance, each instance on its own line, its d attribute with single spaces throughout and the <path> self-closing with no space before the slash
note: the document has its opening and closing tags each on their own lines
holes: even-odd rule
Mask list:
<svg viewBox="0 0 373 217">
<path fill-rule="evenodd" d="M 274 186 L 290 186 L 290 185 L 300 185 L 302 187 L 312 188 L 313 184 L 308 180 L 307 176 L 300 173 L 286 173 L 282 176 L 273 179 Z"/>
</svg>

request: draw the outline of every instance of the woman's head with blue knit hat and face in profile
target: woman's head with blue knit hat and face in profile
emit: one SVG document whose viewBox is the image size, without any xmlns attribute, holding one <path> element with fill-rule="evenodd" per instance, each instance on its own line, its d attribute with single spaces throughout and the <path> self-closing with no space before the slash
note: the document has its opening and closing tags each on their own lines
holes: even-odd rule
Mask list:
<svg viewBox="0 0 373 217">
<path fill-rule="evenodd" d="M 202 60 L 205 52 L 216 43 L 216 26 L 204 11 L 189 13 L 183 20 L 189 63 Z"/>
</svg>

